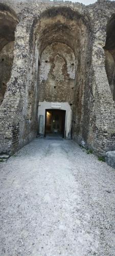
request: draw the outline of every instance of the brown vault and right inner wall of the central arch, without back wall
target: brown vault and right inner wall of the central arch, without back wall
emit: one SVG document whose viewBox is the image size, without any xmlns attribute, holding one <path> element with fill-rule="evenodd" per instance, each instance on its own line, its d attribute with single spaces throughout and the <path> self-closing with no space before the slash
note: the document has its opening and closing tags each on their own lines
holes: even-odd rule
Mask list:
<svg viewBox="0 0 115 256">
<path fill-rule="evenodd" d="M 35 29 L 40 65 L 42 52 L 51 44 L 64 44 L 74 52 L 75 78 L 71 93 L 69 91 L 70 94 L 73 94 L 73 99 L 68 102 L 73 110 L 73 137 L 78 141 L 81 140 L 82 134 L 84 134 L 84 140 L 87 140 L 90 119 L 89 113 L 87 117 L 83 114 L 86 105 L 88 105 L 86 98 L 90 94 L 89 92 L 85 96 L 84 101 L 84 91 L 87 91 L 86 80 L 88 80 L 86 70 L 90 67 L 91 61 L 91 54 L 88 52 L 89 48 L 91 49 L 90 31 L 88 17 L 70 7 L 52 7 L 43 11 L 40 14 L 40 22 Z M 90 89 L 88 88 L 88 90 Z M 56 90 L 54 93 L 56 95 Z M 46 97 L 45 100 L 47 100 Z M 88 111 L 90 110 L 88 109 Z M 83 123 L 84 126 L 87 123 L 85 133 L 82 132 Z"/>
</svg>

